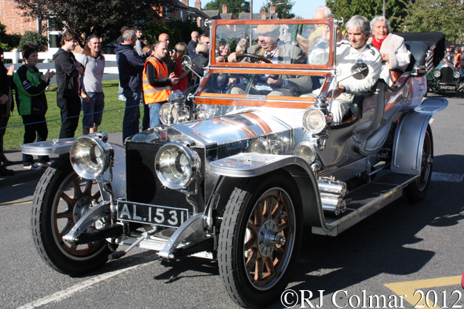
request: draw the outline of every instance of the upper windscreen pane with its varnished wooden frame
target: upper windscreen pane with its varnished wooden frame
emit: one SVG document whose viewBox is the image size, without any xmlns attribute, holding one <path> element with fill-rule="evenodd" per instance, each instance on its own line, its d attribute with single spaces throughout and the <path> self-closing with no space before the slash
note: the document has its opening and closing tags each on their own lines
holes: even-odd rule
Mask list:
<svg viewBox="0 0 464 309">
<path fill-rule="evenodd" d="M 214 26 L 212 48 L 215 50 L 210 52 L 212 66 L 331 66 L 332 19 L 247 20 L 245 24 L 231 20 L 215 21 Z M 324 54 L 318 56 L 317 62 L 309 61 L 318 43 L 326 43 L 318 51 Z"/>
</svg>

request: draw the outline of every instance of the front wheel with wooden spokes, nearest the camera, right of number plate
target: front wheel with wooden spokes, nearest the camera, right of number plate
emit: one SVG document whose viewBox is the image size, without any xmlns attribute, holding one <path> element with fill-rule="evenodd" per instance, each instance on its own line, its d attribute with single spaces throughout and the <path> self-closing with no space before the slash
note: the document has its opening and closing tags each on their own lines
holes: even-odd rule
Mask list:
<svg viewBox="0 0 464 309">
<path fill-rule="evenodd" d="M 302 203 L 284 173 L 245 179 L 226 205 L 219 234 L 219 273 L 231 299 L 263 308 L 279 298 L 302 241 Z"/>
</svg>

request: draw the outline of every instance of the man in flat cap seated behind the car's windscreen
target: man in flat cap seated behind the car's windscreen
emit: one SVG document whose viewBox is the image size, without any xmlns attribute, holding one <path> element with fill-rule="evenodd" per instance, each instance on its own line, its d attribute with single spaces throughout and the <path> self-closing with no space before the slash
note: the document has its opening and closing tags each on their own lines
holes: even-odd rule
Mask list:
<svg viewBox="0 0 464 309">
<path fill-rule="evenodd" d="M 263 56 L 275 64 L 304 63 L 303 52 L 300 47 L 281 42 L 279 24 L 260 24 L 255 32 L 258 35 L 257 45 L 249 47 L 249 54 Z M 236 62 L 237 54 L 229 56 L 229 62 Z M 245 57 L 240 62 L 264 63 L 264 61 Z M 255 86 L 249 89 L 249 93 L 266 96 L 300 96 L 311 91 L 313 83 L 309 76 L 297 75 L 258 75 Z M 231 88 L 231 94 L 245 94 L 246 85 L 238 84 Z"/>
</svg>

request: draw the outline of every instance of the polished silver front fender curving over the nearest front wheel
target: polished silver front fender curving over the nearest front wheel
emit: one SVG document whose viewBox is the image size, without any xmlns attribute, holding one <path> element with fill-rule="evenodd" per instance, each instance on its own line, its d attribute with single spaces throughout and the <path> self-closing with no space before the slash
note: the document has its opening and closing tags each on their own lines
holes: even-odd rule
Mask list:
<svg viewBox="0 0 464 309">
<path fill-rule="evenodd" d="M 303 203 L 304 224 L 311 227 L 320 227 L 329 232 L 320 202 L 318 182 L 311 167 L 302 158 L 297 156 L 277 156 L 261 153 L 240 153 L 229 158 L 216 160 L 210 163 L 210 172 L 229 179 L 256 177 L 284 169 L 293 176 L 297 183 Z M 215 192 L 221 192 L 222 181 Z M 230 182 L 224 181 L 224 186 Z M 225 190 L 225 189 L 224 189 Z"/>
</svg>

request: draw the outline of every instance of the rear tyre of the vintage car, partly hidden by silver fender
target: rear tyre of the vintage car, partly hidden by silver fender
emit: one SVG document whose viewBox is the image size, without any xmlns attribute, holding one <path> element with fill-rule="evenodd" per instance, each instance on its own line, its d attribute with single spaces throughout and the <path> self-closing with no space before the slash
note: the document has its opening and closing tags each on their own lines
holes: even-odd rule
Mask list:
<svg viewBox="0 0 464 309">
<path fill-rule="evenodd" d="M 432 177 L 433 167 L 433 135 L 430 125 L 427 126 L 422 146 L 421 173 L 419 178 L 404 188 L 404 195 L 411 203 L 422 202 L 426 195 Z"/>
</svg>

